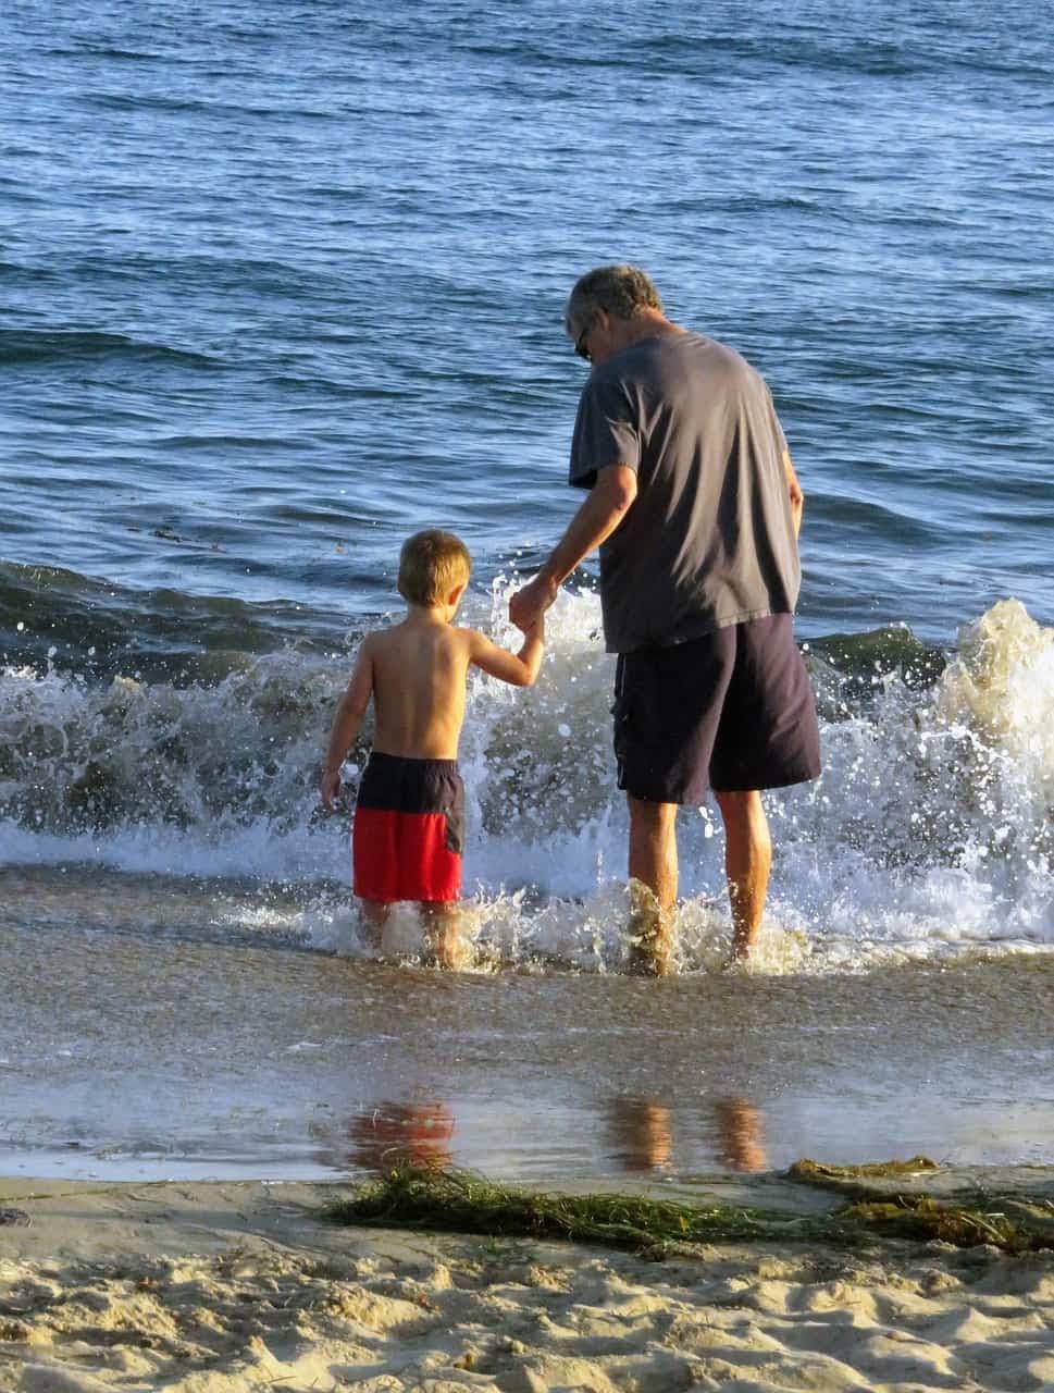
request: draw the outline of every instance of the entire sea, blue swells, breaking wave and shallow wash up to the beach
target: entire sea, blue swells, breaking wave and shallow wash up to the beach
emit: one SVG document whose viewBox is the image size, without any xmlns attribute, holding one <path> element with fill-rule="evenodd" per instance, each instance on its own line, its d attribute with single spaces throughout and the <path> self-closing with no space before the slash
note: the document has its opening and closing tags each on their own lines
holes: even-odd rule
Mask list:
<svg viewBox="0 0 1054 1393">
<path fill-rule="evenodd" d="M 1047 18 L 4 7 L 10 1165 L 347 1169 L 377 1128 L 529 1174 L 1054 1158 Z M 471 691 L 480 972 L 372 964 L 315 793 L 334 702 L 416 528 L 461 532 L 468 618 L 508 632 L 578 501 L 563 302 L 615 259 L 773 389 L 824 775 L 769 801 L 752 972 L 691 809 L 682 975 L 628 985 L 586 566 L 539 687 Z M 409 917 L 387 947 L 414 963 Z"/>
</svg>

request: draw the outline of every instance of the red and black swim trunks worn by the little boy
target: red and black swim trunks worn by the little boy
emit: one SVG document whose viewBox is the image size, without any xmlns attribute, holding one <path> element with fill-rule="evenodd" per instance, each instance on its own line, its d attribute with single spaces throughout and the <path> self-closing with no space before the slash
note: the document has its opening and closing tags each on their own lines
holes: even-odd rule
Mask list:
<svg viewBox="0 0 1054 1393">
<path fill-rule="evenodd" d="M 465 786 L 455 759 L 370 755 L 359 784 L 351 865 L 363 900 L 461 894 Z"/>
</svg>

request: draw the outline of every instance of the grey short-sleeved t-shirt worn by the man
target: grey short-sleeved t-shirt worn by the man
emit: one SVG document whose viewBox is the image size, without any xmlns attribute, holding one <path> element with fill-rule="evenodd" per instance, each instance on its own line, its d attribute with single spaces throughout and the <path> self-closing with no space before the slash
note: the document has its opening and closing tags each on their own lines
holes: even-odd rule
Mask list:
<svg viewBox="0 0 1054 1393">
<path fill-rule="evenodd" d="M 600 547 L 610 653 L 661 648 L 794 612 L 798 542 L 784 433 L 764 379 L 713 338 L 663 333 L 593 368 L 571 483 L 636 471 L 636 500 Z"/>
</svg>

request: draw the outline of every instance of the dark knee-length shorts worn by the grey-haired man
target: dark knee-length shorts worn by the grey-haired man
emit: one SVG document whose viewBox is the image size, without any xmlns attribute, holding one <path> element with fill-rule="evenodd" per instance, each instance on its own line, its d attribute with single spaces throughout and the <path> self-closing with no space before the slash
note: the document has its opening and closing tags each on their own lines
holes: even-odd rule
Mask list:
<svg viewBox="0 0 1054 1393">
<path fill-rule="evenodd" d="M 820 773 L 816 702 L 789 614 L 620 653 L 618 787 L 649 802 L 784 788 Z"/>
</svg>

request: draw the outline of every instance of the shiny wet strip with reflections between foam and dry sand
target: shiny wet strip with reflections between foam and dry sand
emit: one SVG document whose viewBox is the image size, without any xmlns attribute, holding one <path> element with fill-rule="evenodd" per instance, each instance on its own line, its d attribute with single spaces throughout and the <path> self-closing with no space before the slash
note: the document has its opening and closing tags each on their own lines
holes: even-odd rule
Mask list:
<svg viewBox="0 0 1054 1393">
<path fill-rule="evenodd" d="M 116 894 L 92 903 L 97 928 L 0 915 L 0 1173 L 312 1180 L 401 1153 L 542 1183 L 802 1155 L 1054 1163 L 1051 954 L 444 975 L 234 937 L 214 904 L 212 924 L 148 929 L 138 894 L 127 919 Z"/>
</svg>

